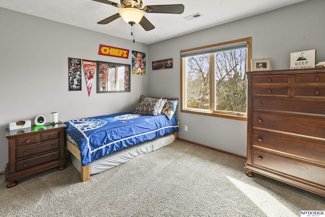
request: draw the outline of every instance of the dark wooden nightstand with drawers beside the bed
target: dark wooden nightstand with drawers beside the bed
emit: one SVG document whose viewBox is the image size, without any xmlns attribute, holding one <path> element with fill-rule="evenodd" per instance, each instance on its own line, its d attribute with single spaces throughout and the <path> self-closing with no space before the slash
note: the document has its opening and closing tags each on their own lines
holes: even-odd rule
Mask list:
<svg viewBox="0 0 325 217">
<path fill-rule="evenodd" d="M 6 129 L 9 140 L 9 162 L 6 168 L 7 188 L 18 184 L 16 179 L 59 166 L 66 168 L 63 123 L 54 126 L 31 126 L 19 130 Z"/>
</svg>

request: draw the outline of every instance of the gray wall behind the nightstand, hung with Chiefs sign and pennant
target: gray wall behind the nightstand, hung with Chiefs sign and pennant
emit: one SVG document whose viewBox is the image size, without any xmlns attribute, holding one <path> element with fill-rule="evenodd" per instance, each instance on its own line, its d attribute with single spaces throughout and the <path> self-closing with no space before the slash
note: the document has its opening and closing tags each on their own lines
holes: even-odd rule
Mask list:
<svg viewBox="0 0 325 217">
<path fill-rule="evenodd" d="M 68 57 L 131 64 L 128 59 L 98 55 L 100 44 L 148 53 L 148 45 L 133 43 L 0 8 L 0 167 L 8 161 L 5 129 L 10 121 L 51 112 L 59 120 L 131 111 L 148 92 L 148 73 L 131 75 L 131 92 L 96 94 L 96 79 L 88 97 L 68 91 Z M 147 58 L 149 63 L 150 57 Z"/>
</svg>

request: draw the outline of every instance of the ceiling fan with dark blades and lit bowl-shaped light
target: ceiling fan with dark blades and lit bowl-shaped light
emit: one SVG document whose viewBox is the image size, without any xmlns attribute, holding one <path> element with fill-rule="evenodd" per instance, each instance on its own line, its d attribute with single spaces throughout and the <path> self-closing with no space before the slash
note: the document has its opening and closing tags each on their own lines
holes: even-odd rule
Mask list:
<svg viewBox="0 0 325 217">
<path fill-rule="evenodd" d="M 122 10 L 110 17 L 107 17 L 98 22 L 98 24 L 108 24 L 119 17 L 122 17 L 125 22 L 133 26 L 136 23 L 146 30 L 154 29 L 154 25 L 144 16 L 146 13 L 164 13 L 164 14 L 182 14 L 184 12 L 184 5 L 147 5 L 142 8 L 141 0 L 120 0 L 120 4 L 108 0 L 92 0 L 95 2 L 105 3 Z"/>
</svg>

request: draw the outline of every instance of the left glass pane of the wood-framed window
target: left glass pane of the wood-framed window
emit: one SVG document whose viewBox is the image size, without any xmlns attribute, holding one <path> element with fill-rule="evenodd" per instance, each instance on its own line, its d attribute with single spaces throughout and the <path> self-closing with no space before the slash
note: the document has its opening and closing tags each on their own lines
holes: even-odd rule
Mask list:
<svg viewBox="0 0 325 217">
<path fill-rule="evenodd" d="M 186 107 L 209 110 L 209 54 L 186 57 Z"/>
</svg>

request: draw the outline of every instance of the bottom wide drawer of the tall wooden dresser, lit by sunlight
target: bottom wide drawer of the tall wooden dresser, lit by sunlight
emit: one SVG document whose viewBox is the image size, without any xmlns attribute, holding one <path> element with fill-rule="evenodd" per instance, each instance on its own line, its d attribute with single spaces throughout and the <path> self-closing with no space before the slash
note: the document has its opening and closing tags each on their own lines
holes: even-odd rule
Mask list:
<svg viewBox="0 0 325 217">
<path fill-rule="evenodd" d="M 252 164 L 325 187 L 325 168 L 323 167 L 254 148 L 252 149 Z"/>
</svg>

